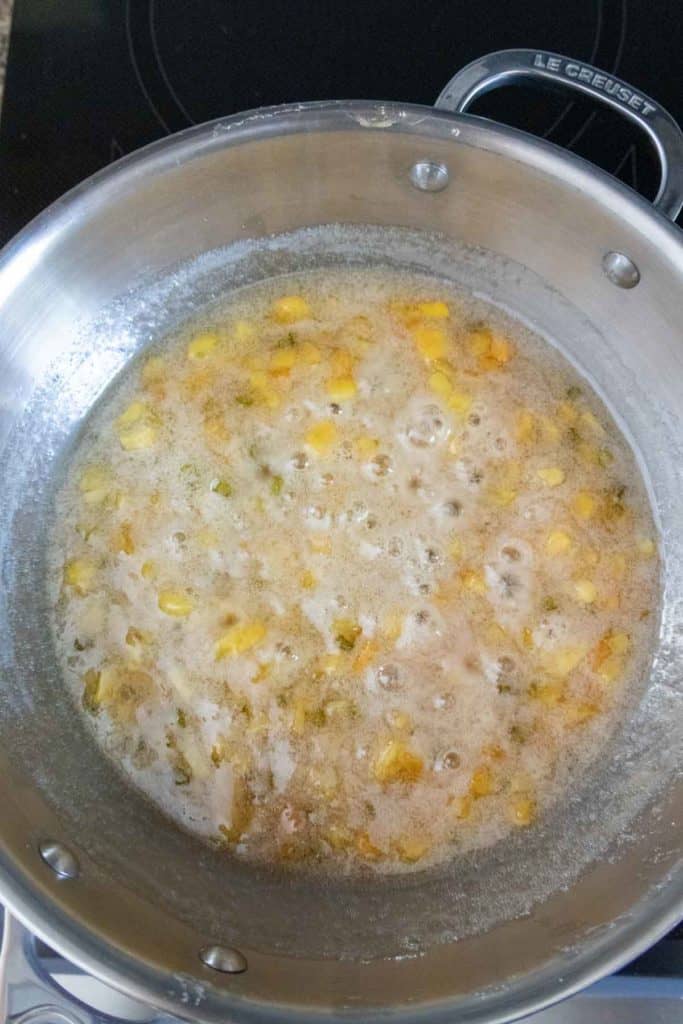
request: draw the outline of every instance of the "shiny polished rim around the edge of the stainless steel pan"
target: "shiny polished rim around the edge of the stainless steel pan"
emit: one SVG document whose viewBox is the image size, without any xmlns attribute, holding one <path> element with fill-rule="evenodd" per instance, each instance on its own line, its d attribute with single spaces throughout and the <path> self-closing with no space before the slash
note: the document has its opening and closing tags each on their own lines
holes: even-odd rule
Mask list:
<svg viewBox="0 0 683 1024">
<path fill-rule="evenodd" d="M 455 115 L 429 106 L 379 100 L 323 100 L 259 108 L 218 118 L 152 142 L 123 157 L 77 184 L 29 222 L 0 252 L 0 308 L 14 288 L 38 271 L 60 234 L 71 225 L 96 214 L 117 197 L 142 180 L 173 170 L 187 161 L 224 147 L 279 135 L 307 132 L 375 131 L 414 135 L 417 142 L 430 138 L 450 140 L 514 159 L 558 184 L 586 193 L 646 236 L 683 275 L 683 233 L 663 214 L 627 185 L 588 161 L 546 140 L 472 115 Z M 36 935 L 88 973 L 127 994 L 170 1013 L 183 1012 L 169 986 L 170 977 L 148 962 L 131 956 L 69 914 L 48 895 L 36 874 L 27 871 L 0 851 L 0 895 L 3 902 Z M 657 891 L 650 893 L 603 933 L 588 939 L 573 962 L 548 962 L 542 968 L 513 979 L 505 988 L 485 989 L 471 996 L 401 1007 L 391 1011 L 396 1021 L 445 1024 L 462 1009 L 471 1022 L 511 1021 L 537 1012 L 612 973 L 648 948 L 673 928 L 683 914 L 683 872 L 672 872 Z M 428 953 L 427 953 L 428 955 Z M 198 961 L 197 978 L 209 982 Z M 561 980 L 560 980 L 561 978 Z M 210 986 L 208 986 L 210 988 Z M 288 1006 L 276 1008 L 244 1000 L 223 989 L 210 989 L 204 1014 L 218 1019 L 232 1011 L 245 1021 L 274 1022 L 305 1019 L 330 1021 L 330 1013 Z M 198 1008 L 199 1009 L 199 1008 Z M 344 1011 L 354 1017 L 355 1011 Z M 365 1021 L 384 1017 L 387 1011 L 358 1010 Z M 201 1014 L 201 1018 L 204 1017 Z"/>
</svg>

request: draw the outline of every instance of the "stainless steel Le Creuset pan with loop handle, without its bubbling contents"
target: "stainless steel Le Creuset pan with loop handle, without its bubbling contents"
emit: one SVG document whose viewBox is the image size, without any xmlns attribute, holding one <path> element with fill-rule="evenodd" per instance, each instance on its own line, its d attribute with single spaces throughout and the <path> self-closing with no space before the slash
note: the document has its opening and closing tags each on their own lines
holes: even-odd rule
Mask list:
<svg viewBox="0 0 683 1024">
<path fill-rule="evenodd" d="M 654 209 L 464 114 L 529 75 L 638 122 L 661 164 Z M 683 136 L 624 83 L 530 50 L 465 69 L 437 106 L 306 103 L 203 125 L 95 175 L 0 260 L 0 895 L 78 965 L 183 1017 L 510 1020 L 681 914 L 683 244 L 667 217 Z M 41 583 L 59 462 L 129 357 L 221 289 L 335 261 L 438 273 L 556 339 L 638 453 L 665 561 L 650 679 L 562 807 L 500 848 L 373 884 L 233 863 L 128 788 L 60 686 Z"/>
</svg>

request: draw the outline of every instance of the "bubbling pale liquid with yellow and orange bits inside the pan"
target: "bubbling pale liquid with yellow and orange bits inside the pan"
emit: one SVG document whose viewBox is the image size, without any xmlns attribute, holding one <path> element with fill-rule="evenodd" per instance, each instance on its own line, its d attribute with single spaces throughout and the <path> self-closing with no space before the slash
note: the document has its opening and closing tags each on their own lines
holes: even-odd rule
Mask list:
<svg viewBox="0 0 683 1024">
<path fill-rule="evenodd" d="M 441 282 L 251 286 L 97 409 L 54 635 L 121 769 L 234 855 L 410 871 L 536 820 L 642 680 L 654 527 L 561 356 Z"/>
</svg>

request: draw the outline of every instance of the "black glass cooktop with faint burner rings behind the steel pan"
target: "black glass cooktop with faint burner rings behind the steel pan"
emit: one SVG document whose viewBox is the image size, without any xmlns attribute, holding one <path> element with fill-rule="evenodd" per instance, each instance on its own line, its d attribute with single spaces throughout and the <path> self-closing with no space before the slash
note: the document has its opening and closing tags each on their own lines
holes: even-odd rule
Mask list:
<svg viewBox="0 0 683 1024">
<path fill-rule="evenodd" d="M 683 121 L 681 0 L 15 0 L 0 242 L 93 171 L 193 124 L 302 99 L 432 103 L 463 65 L 517 46 L 595 63 Z M 648 143 L 590 102 L 506 89 L 473 112 L 656 191 Z M 683 975 L 683 929 L 630 970 Z"/>
</svg>

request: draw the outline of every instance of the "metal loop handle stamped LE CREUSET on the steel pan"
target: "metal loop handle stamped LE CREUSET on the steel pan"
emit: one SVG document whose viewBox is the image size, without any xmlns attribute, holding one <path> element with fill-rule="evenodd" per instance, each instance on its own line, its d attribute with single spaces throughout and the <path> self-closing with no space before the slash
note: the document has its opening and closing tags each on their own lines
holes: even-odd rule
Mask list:
<svg viewBox="0 0 683 1024">
<path fill-rule="evenodd" d="M 613 75 L 546 50 L 498 50 L 454 75 L 434 105 L 464 114 L 484 92 L 520 84 L 524 79 L 582 92 L 637 124 L 654 145 L 661 170 L 652 205 L 666 217 L 676 219 L 683 207 L 683 132 L 668 111 Z"/>
</svg>

